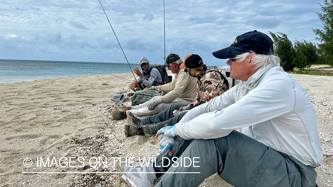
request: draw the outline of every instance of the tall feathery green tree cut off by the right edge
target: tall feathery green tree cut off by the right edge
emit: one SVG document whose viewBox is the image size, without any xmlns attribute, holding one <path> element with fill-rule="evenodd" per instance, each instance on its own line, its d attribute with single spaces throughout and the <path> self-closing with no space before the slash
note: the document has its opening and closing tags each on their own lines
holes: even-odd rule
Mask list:
<svg viewBox="0 0 333 187">
<path fill-rule="evenodd" d="M 316 39 L 322 42 L 318 46 L 323 54 L 324 63 L 333 65 L 333 0 L 324 0 L 324 5 L 320 6 L 323 12 L 317 14 L 324 28 L 313 29 L 313 32 L 318 36 Z"/>
</svg>

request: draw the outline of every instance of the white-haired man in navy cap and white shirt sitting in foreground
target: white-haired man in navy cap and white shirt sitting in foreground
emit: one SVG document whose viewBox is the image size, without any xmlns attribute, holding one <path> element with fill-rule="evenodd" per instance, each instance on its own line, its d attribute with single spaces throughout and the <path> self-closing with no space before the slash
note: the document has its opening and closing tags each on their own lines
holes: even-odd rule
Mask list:
<svg viewBox="0 0 333 187">
<path fill-rule="evenodd" d="M 272 51 L 273 41 L 255 30 L 213 52 L 229 58 L 230 77 L 241 84 L 158 132 L 161 155 L 154 166 L 167 165 L 161 157 L 173 154 L 199 157 L 195 165 L 200 167 L 154 168 L 148 162 L 143 171 L 167 171 L 156 186 L 194 187 L 216 172 L 236 187 L 316 186 L 314 168 L 322 164 L 316 114 L 304 88 L 283 71 Z M 132 173 L 126 177 L 135 180 Z"/>
</svg>

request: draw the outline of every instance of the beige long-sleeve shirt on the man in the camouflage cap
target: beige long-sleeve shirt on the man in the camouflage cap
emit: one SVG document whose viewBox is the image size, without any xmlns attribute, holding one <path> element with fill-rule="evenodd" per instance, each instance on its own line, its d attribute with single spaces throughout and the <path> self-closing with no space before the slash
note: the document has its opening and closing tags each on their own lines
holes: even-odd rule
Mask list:
<svg viewBox="0 0 333 187">
<path fill-rule="evenodd" d="M 193 102 L 196 96 L 196 78 L 189 76 L 183 69 L 175 74 L 174 79 L 165 85 L 156 86 L 157 91 L 169 92 L 155 100 L 157 104 L 184 99 Z"/>
</svg>

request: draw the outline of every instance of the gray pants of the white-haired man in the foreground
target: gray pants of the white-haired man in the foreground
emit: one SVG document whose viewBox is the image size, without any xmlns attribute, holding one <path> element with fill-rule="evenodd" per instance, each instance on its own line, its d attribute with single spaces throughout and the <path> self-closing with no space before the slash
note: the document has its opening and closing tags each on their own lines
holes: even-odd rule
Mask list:
<svg viewBox="0 0 333 187">
<path fill-rule="evenodd" d="M 191 159 L 200 157 L 196 159 L 199 161 L 196 165 L 200 167 L 173 167 L 170 164 L 160 168 L 161 172 L 200 173 L 166 173 L 157 187 L 195 187 L 216 172 L 236 187 L 316 186 L 314 167 L 305 166 L 293 157 L 237 131 L 218 139 L 180 140 L 172 157 L 174 156 Z M 157 165 L 162 165 L 162 157 L 170 158 L 167 152 L 159 155 Z M 166 159 L 164 162 L 165 165 L 168 164 Z"/>
</svg>

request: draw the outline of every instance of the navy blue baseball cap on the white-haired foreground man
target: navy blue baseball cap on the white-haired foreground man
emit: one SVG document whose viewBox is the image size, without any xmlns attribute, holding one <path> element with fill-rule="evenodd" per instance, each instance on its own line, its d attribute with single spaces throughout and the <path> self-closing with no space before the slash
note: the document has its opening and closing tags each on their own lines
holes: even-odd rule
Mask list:
<svg viewBox="0 0 333 187">
<path fill-rule="evenodd" d="M 237 36 L 230 47 L 213 52 L 213 56 L 227 59 L 250 51 L 256 54 L 270 55 L 273 52 L 273 43 L 269 36 L 254 30 Z"/>
</svg>

